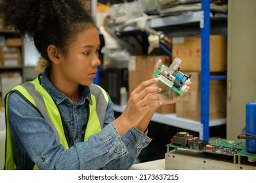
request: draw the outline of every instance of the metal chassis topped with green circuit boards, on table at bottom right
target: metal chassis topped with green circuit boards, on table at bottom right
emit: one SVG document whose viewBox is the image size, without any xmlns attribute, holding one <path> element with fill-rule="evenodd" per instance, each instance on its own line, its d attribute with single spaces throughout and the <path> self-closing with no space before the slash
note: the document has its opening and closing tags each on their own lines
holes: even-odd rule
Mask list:
<svg viewBox="0 0 256 183">
<path fill-rule="evenodd" d="M 188 160 L 189 159 L 189 160 Z M 256 154 L 247 142 L 217 138 L 200 141 L 189 132 L 178 132 L 167 144 L 165 169 L 256 169 Z"/>
</svg>

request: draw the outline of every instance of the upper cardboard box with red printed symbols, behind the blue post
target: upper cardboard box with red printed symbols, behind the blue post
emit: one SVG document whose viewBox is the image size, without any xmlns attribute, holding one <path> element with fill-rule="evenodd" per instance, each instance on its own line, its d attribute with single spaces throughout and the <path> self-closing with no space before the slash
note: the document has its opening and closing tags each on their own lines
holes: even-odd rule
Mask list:
<svg viewBox="0 0 256 183">
<path fill-rule="evenodd" d="M 227 39 L 210 35 L 210 71 L 222 72 L 227 68 Z M 182 71 L 201 71 L 201 37 L 173 37 L 173 54 L 182 60 Z"/>
</svg>

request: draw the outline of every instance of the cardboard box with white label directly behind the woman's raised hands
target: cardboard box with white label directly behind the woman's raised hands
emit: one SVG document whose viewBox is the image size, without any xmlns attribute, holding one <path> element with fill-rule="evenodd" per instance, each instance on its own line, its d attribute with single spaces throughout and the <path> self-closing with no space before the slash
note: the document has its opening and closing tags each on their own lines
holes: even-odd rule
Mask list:
<svg viewBox="0 0 256 183">
<path fill-rule="evenodd" d="M 172 58 L 170 56 L 131 56 L 128 63 L 129 95 L 141 82 L 153 77 L 154 65 L 160 58 L 165 65 L 171 65 Z M 161 114 L 175 113 L 175 104 L 163 105 L 156 112 Z"/>
</svg>

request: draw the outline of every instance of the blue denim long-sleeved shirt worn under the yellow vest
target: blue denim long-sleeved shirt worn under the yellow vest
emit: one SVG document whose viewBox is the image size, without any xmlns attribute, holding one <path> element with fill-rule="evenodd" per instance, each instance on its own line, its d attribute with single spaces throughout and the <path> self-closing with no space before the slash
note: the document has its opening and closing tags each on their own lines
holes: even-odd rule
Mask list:
<svg viewBox="0 0 256 183">
<path fill-rule="evenodd" d="M 20 95 L 11 93 L 9 122 L 18 169 L 33 169 L 34 163 L 39 169 L 129 169 L 142 148 L 152 140 L 135 127 L 120 137 L 113 124 L 114 110 L 110 100 L 102 130 L 83 142 L 91 101 L 89 87 L 80 86 L 81 97 L 74 105 L 69 97 L 56 90 L 46 71 L 41 86 L 60 109 L 69 149 L 64 150 L 55 141 L 53 129 L 41 114 Z"/>
</svg>

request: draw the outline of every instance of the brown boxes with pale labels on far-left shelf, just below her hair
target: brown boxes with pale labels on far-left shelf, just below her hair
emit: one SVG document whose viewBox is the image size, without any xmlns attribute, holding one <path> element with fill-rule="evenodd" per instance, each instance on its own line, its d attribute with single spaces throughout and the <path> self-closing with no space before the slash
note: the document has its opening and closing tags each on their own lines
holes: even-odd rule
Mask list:
<svg viewBox="0 0 256 183">
<path fill-rule="evenodd" d="M 2 67 L 17 67 L 21 65 L 20 48 L 0 47 L 0 61 Z"/>
</svg>

